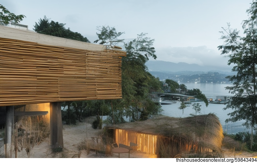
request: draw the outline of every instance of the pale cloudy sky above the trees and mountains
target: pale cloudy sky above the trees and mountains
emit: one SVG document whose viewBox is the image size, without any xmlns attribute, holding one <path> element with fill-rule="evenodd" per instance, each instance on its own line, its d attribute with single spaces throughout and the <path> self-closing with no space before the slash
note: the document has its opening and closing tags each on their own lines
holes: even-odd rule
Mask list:
<svg viewBox="0 0 257 163">
<path fill-rule="evenodd" d="M 121 39 L 148 33 L 155 39 L 157 60 L 227 66 L 227 58 L 217 46 L 221 27 L 242 31 L 242 20 L 252 0 L 1 0 L 16 15 L 25 15 L 21 24 L 33 30 L 38 19 L 47 18 L 71 31 L 81 33 L 91 43 L 97 26 L 115 27 L 125 32 Z M 225 68 L 224 68 L 225 69 Z"/>
</svg>

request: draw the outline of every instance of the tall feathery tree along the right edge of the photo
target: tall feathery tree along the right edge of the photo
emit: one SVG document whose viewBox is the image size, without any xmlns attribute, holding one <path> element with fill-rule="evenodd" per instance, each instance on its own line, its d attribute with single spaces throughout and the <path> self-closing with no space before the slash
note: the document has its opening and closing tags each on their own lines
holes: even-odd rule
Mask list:
<svg viewBox="0 0 257 163">
<path fill-rule="evenodd" d="M 232 86 L 226 87 L 232 97 L 228 98 L 227 106 L 224 110 L 232 108 L 233 112 L 229 113 L 229 119 L 226 122 L 237 122 L 244 119 L 243 123 L 247 128 L 252 128 L 251 149 L 253 144 L 253 128 L 257 124 L 256 110 L 256 65 L 257 65 L 257 2 L 254 0 L 251 7 L 246 10 L 249 18 L 243 20 L 242 28 L 244 36 L 239 36 L 237 29 L 222 27 L 221 39 L 224 44 L 218 46 L 222 55 L 229 57 L 228 65 L 234 64 L 232 71 L 237 72 L 228 78 Z"/>
</svg>

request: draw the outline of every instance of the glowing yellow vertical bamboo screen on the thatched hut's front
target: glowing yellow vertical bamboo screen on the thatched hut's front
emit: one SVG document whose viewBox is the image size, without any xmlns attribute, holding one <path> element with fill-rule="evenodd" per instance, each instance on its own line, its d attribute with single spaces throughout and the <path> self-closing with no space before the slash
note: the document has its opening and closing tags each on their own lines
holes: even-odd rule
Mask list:
<svg viewBox="0 0 257 163">
<path fill-rule="evenodd" d="M 157 135 L 115 129 L 115 141 L 117 144 L 128 146 L 129 142 L 136 143 L 138 144 L 137 151 L 155 155 Z"/>
</svg>

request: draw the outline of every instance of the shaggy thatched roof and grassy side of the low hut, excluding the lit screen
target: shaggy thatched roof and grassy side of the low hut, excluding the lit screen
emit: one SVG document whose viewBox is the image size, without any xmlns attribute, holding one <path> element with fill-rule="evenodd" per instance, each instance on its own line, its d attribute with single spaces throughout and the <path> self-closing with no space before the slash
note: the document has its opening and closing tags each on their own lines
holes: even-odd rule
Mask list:
<svg viewBox="0 0 257 163">
<path fill-rule="evenodd" d="M 125 130 L 128 133 L 156 135 L 155 153 L 162 155 L 160 157 L 174 157 L 176 154 L 192 150 L 195 153 L 206 151 L 219 153 L 223 140 L 221 123 L 214 114 L 186 118 L 158 115 L 145 121 L 121 123 L 107 128 Z M 161 148 L 165 148 L 165 151 L 169 149 L 170 152 L 161 154 Z"/>
</svg>

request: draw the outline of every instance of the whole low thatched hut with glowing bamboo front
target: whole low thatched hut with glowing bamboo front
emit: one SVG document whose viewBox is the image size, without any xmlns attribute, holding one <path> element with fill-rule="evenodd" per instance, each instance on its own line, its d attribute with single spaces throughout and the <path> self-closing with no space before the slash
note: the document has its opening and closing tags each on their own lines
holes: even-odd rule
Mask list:
<svg viewBox="0 0 257 163">
<path fill-rule="evenodd" d="M 114 143 L 137 144 L 133 150 L 158 158 L 222 157 L 222 126 L 214 114 L 174 118 L 154 116 L 106 127 Z M 194 155 L 194 156 L 190 156 Z M 198 156 L 197 156 L 198 155 Z"/>
</svg>

